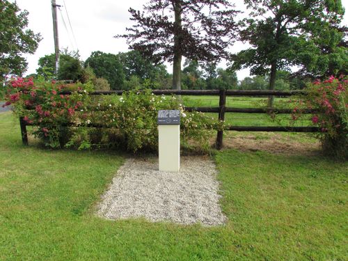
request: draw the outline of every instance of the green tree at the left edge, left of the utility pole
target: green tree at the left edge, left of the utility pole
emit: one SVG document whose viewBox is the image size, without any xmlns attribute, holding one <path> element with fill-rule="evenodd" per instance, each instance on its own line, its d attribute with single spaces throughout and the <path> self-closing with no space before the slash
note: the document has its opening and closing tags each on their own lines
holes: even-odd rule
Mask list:
<svg viewBox="0 0 348 261">
<path fill-rule="evenodd" d="M 27 63 L 23 54 L 33 54 L 41 40 L 28 26 L 28 12 L 17 3 L 0 0 L 0 81 L 7 74 L 22 75 Z"/>
</svg>

